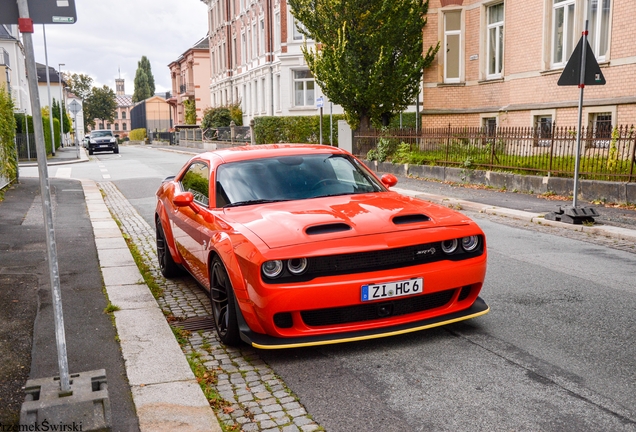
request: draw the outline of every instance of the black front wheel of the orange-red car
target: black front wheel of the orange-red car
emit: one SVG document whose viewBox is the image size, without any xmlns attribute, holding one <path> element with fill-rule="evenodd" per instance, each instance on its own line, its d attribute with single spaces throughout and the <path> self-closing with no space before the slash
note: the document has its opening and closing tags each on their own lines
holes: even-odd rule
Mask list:
<svg viewBox="0 0 636 432">
<path fill-rule="evenodd" d="M 216 334 L 221 342 L 231 346 L 239 345 L 241 336 L 236 318 L 234 291 L 225 266 L 218 256 L 214 257 L 210 266 L 210 303 Z"/>
</svg>

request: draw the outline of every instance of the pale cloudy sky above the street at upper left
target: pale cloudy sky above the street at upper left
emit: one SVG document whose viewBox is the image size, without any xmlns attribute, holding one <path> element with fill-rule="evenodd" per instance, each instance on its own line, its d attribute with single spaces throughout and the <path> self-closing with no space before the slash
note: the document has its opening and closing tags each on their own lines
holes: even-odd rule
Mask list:
<svg viewBox="0 0 636 432">
<path fill-rule="evenodd" d="M 150 60 L 155 91 L 172 89 L 168 64 L 205 37 L 207 6 L 201 0 L 75 0 L 75 24 L 48 24 L 48 65 L 83 73 L 93 85 L 115 91 L 121 74 L 134 91 L 137 63 Z M 45 64 L 42 24 L 34 24 L 35 61 Z M 59 64 L 64 64 L 61 68 Z"/>
</svg>

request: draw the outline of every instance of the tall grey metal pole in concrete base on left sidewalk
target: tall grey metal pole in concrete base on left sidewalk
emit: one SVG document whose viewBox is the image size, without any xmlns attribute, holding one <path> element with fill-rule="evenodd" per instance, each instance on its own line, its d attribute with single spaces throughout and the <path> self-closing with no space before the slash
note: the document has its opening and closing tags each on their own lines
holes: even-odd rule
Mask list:
<svg viewBox="0 0 636 432">
<path fill-rule="evenodd" d="M 68 359 L 66 356 L 66 336 L 64 334 L 64 317 L 62 314 L 62 293 L 60 289 L 60 273 L 57 266 L 57 248 L 55 246 L 55 231 L 53 230 L 53 211 L 51 206 L 51 190 L 46 166 L 46 149 L 44 146 L 44 128 L 42 127 L 42 111 L 38 95 L 37 68 L 33 52 L 33 21 L 29 18 L 27 0 L 17 0 L 20 13 L 20 32 L 24 39 L 27 73 L 29 74 L 29 92 L 31 93 L 31 107 L 33 108 L 33 128 L 35 129 L 35 145 L 38 157 L 38 171 L 40 178 L 40 195 L 42 197 L 42 213 L 44 215 L 44 231 L 46 233 L 47 253 L 49 260 L 49 275 L 51 278 L 51 300 L 55 317 L 55 341 L 57 343 L 57 360 L 60 368 L 61 393 L 70 393 L 71 385 L 68 373 Z M 48 72 L 48 66 L 47 66 Z M 47 73 L 48 76 L 48 73 Z"/>
</svg>

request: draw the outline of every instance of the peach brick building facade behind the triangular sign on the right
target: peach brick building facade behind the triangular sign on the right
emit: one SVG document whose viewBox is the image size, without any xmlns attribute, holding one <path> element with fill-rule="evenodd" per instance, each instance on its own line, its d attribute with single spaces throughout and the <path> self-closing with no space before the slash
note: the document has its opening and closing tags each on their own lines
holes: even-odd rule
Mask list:
<svg viewBox="0 0 636 432">
<path fill-rule="evenodd" d="M 636 27 L 629 0 L 430 0 L 423 126 L 575 127 L 577 86 L 558 86 L 585 22 L 607 83 L 584 89 L 583 126 L 636 123 Z"/>
</svg>

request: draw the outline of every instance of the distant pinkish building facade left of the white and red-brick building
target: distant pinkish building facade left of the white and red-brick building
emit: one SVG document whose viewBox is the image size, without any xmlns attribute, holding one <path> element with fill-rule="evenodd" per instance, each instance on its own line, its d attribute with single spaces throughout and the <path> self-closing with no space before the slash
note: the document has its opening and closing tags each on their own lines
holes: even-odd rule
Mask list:
<svg viewBox="0 0 636 432">
<path fill-rule="evenodd" d="M 203 113 L 210 106 L 210 50 L 208 36 L 181 54 L 177 60 L 168 65 L 168 68 L 170 69 L 172 80 L 172 92 L 167 101 L 171 107 L 173 125 L 185 124 L 184 101 L 194 102 L 196 124 L 201 124 Z"/>
</svg>

